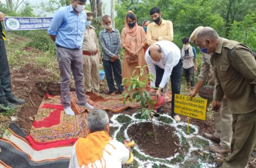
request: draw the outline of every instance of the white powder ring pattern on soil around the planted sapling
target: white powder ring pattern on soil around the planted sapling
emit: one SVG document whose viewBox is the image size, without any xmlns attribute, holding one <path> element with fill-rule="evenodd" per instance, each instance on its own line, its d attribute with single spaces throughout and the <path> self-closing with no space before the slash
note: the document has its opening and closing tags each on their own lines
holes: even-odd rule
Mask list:
<svg viewBox="0 0 256 168">
<path fill-rule="evenodd" d="M 127 131 L 130 127 L 132 127 L 135 124 L 140 124 L 140 123 L 146 123 L 146 122 L 150 122 L 150 120 L 146 120 L 146 119 L 138 119 L 136 118 L 136 115 L 138 113 L 134 113 L 132 116 L 131 115 L 127 115 L 127 114 L 115 114 L 111 117 L 111 124 L 110 127 L 112 128 L 117 128 L 113 134 L 113 138 L 116 139 L 118 133 L 120 132 L 120 129 L 122 128 L 122 126 L 125 123 L 129 123 L 127 125 L 127 127 L 124 129 L 124 138 L 128 141 L 131 140 L 131 138 L 129 137 Z M 118 122 L 118 117 L 119 116 L 126 116 L 129 119 L 131 119 L 131 121 L 127 121 L 124 123 L 120 123 Z M 139 157 L 137 157 L 136 155 L 134 155 L 134 160 L 137 161 L 138 163 L 138 167 L 152 167 L 153 165 L 164 165 L 166 167 L 182 167 L 183 164 L 185 164 L 185 162 L 190 161 L 191 158 L 191 153 L 195 152 L 197 150 L 200 150 L 202 153 L 208 153 L 209 155 L 214 155 L 214 154 L 210 154 L 209 150 L 205 150 L 202 148 L 202 146 L 194 146 L 194 143 L 192 142 L 193 140 L 191 138 L 199 138 L 202 141 L 207 142 L 209 145 L 212 144 L 211 141 L 209 141 L 208 139 L 199 136 L 199 128 L 196 125 L 190 124 L 190 129 L 194 129 L 193 133 L 190 134 L 186 134 L 183 130 L 182 127 L 187 127 L 187 123 L 184 122 L 179 122 L 177 123 L 172 117 L 170 117 L 167 114 L 160 114 L 161 117 L 166 118 L 168 120 L 171 120 L 171 123 L 166 123 L 166 122 L 162 122 L 161 120 L 158 120 L 158 118 L 154 118 L 154 124 L 155 125 L 169 125 L 171 127 L 174 128 L 174 134 L 178 137 L 179 139 L 179 148 L 181 148 L 182 146 L 182 137 L 184 137 L 186 139 L 186 141 L 189 144 L 189 149 L 188 152 L 186 153 L 184 159 L 182 162 L 176 162 L 175 164 L 172 164 L 170 162 L 172 162 L 175 158 L 177 158 L 179 156 L 179 152 L 174 153 L 172 156 L 169 156 L 168 158 L 157 158 L 157 157 L 152 157 L 147 155 L 146 153 L 144 153 L 142 150 L 140 150 L 140 148 L 137 146 L 137 144 L 135 144 L 133 151 L 136 151 L 137 153 L 139 153 L 139 155 L 147 158 L 146 160 L 142 160 Z M 203 155 L 203 154 L 200 154 Z M 205 162 L 203 160 L 200 160 L 200 158 L 196 161 L 200 167 L 215 167 L 215 163 L 208 163 Z"/>
</svg>

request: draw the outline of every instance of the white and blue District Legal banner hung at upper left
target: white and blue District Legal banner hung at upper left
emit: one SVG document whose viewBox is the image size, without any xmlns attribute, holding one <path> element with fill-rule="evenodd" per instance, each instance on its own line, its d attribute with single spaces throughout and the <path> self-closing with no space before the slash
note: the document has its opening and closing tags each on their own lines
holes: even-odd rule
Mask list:
<svg viewBox="0 0 256 168">
<path fill-rule="evenodd" d="M 52 17 L 5 17 L 6 30 L 48 29 Z"/>
</svg>

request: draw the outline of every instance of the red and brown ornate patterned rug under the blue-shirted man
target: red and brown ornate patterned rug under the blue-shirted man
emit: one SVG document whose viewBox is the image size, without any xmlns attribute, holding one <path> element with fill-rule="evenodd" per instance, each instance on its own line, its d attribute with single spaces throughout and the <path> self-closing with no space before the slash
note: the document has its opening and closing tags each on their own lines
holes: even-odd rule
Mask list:
<svg viewBox="0 0 256 168">
<path fill-rule="evenodd" d="M 171 94 L 168 93 L 168 97 Z M 77 104 L 75 92 L 70 93 L 71 109 L 75 116 L 66 115 L 61 105 L 61 96 L 46 95 L 38 108 L 30 134 L 26 139 L 34 150 L 74 144 L 79 137 L 87 136 L 86 116 L 89 109 Z M 170 101 L 170 99 L 168 99 Z M 140 102 L 123 104 L 122 95 L 87 94 L 87 102 L 97 109 L 120 113 L 127 108 L 138 108 Z"/>
</svg>

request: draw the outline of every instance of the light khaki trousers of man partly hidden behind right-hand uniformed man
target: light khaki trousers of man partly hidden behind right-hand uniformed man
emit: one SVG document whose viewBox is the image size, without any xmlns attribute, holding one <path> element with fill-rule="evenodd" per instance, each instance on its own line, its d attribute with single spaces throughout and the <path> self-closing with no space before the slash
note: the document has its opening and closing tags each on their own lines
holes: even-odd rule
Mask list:
<svg viewBox="0 0 256 168">
<path fill-rule="evenodd" d="M 232 139 L 232 114 L 228 107 L 227 98 L 224 96 L 222 100 L 221 109 L 213 111 L 215 133 L 214 137 L 221 139 L 219 143 L 224 148 L 230 148 Z"/>
</svg>

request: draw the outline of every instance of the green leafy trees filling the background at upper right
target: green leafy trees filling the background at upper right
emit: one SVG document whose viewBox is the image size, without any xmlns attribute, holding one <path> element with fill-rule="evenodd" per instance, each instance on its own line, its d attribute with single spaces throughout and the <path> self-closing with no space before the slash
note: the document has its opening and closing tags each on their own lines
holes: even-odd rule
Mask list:
<svg viewBox="0 0 256 168">
<path fill-rule="evenodd" d="M 116 29 L 123 29 L 127 11 L 132 10 L 141 25 L 143 20 L 150 20 L 149 11 L 155 6 L 160 7 L 165 20 L 173 22 L 173 42 L 180 48 L 182 38 L 196 27 L 210 26 L 220 36 L 256 50 L 255 0 L 116 0 Z"/>
</svg>

